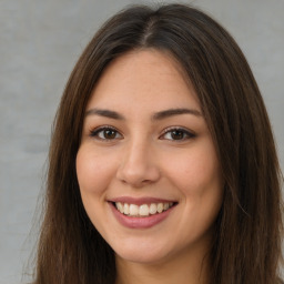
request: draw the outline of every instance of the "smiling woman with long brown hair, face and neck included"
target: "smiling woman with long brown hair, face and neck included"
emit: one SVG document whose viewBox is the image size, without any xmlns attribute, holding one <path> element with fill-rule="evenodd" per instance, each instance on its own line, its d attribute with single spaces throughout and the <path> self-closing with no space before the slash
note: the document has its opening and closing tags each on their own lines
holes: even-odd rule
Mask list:
<svg viewBox="0 0 284 284">
<path fill-rule="evenodd" d="M 132 7 L 57 114 L 34 283 L 275 284 L 281 173 L 256 82 L 191 7 Z"/>
</svg>

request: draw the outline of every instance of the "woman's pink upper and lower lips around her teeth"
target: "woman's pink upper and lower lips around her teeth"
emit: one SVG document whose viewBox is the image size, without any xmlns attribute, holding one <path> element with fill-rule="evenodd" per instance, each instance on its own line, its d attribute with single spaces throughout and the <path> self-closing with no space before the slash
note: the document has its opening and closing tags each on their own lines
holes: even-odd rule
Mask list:
<svg viewBox="0 0 284 284">
<path fill-rule="evenodd" d="M 164 221 L 170 215 L 172 210 L 174 209 L 174 206 L 172 206 L 162 213 L 143 216 L 143 217 L 136 217 L 136 216 L 133 217 L 133 216 L 124 215 L 120 211 L 118 211 L 115 205 L 113 204 L 114 202 L 142 205 L 142 204 L 151 204 L 151 203 L 160 203 L 160 202 L 170 203 L 170 202 L 174 202 L 174 201 L 153 199 L 153 197 L 133 199 L 130 196 L 118 197 L 118 199 L 113 199 L 113 200 L 109 201 L 110 207 L 111 207 L 115 219 L 120 222 L 120 224 L 122 224 L 123 226 L 126 226 L 129 229 L 152 227 L 152 226 L 161 223 L 162 221 Z"/>
</svg>

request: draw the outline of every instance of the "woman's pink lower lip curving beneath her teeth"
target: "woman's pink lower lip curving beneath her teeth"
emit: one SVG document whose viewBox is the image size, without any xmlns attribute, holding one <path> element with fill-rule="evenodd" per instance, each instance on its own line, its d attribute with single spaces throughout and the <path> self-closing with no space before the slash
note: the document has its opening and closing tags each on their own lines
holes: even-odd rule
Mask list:
<svg viewBox="0 0 284 284">
<path fill-rule="evenodd" d="M 148 227 L 154 226 L 161 223 L 162 221 L 164 221 L 169 216 L 169 214 L 172 212 L 172 210 L 175 207 L 175 206 L 172 206 L 162 213 L 149 215 L 146 217 L 131 217 L 120 213 L 112 203 L 110 203 L 110 206 L 116 220 L 123 226 L 126 226 L 130 229 L 148 229 Z"/>
</svg>

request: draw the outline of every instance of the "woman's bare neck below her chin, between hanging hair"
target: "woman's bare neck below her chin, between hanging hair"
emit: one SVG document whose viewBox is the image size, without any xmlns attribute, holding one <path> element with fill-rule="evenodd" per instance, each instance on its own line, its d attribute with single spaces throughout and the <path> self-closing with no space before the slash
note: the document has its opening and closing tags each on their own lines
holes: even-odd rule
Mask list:
<svg viewBox="0 0 284 284">
<path fill-rule="evenodd" d="M 116 256 L 115 284 L 207 284 L 209 256 L 206 252 L 184 252 L 179 257 L 159 263 L 134 263 Z"/>
</svg>

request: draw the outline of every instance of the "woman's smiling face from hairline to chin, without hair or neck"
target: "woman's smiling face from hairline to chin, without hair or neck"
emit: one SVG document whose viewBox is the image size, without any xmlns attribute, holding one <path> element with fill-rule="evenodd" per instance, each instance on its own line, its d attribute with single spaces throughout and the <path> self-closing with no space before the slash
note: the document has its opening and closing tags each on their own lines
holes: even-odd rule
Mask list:
<svg viewBox="0 0 284 284">
<path fill-rule="evenodd" d="M 84 209 L 120 258 L 206 251 L 223 179 L 197 97 L 154 50 L 114 60 L 89 101 L 77 156 Z"/>
</svg>

